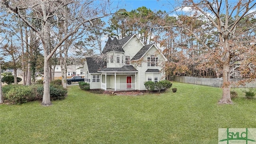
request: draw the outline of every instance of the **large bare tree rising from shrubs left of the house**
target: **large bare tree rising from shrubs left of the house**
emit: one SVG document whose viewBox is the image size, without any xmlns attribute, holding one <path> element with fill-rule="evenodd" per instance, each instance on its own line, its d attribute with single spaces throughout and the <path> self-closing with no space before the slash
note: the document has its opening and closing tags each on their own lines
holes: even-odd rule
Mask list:
<svg viewBox="0 0 256 144">
<path fill-rule="evenodd" d="M 44 95 L 42 104 L 49 106 L 50 102 L 50 89 L 49 89 L 49 60 L 54 52 L 62 46 L 64 41 L 73 34 L 76 34 L 80 29 L 84 29 L 91 26 L 91 21 L 97 18 L 108 16 L 108 2 L 98 2 L 94 0 L 80 1 L 80 0 L 37 0 L 37 1 L 15 1 L 15 0 L 2 0 L 1 1 L 2 12 L 10 13 L 13 16 L 20 18 L 26 25 L 36 33 L 38 38 L 42 41 L 42 47 L 44 49 Z M 66 6 L 76 9 L 76 14 L 70 14 L 74 17 L 63 17 L 64 13 L 68 12 Z M 22 14 L 20 11 L 27 10 L 28 13 Z M 30 16 L 29 12 L 36 12 L 36 16 Z M 27 18 L 40 20 L 40 28 L 34 25 L 34 23 L 27 20 Z M 54 23 L 63 21 L 73 21 L 76 26 L 70 30 L 67 34 L 63 34 L 62 39 L 58 44 L 54 46 L 49 53 L 49 40 L 50 32 L 55 26 Z M 53 24 L 53 25 L 52 25 Z"/>
</svg>

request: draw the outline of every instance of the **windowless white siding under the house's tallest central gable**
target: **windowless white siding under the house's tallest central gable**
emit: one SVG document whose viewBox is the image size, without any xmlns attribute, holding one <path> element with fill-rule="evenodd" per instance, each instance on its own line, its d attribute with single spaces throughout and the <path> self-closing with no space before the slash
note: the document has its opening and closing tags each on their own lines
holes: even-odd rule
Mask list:
<svg viewBox="0 0 256 144">
<path fill-rule="evenodd" d="M 144 45 L 134 36 L 124 47 L 125 56 L 130 56 L 130 60 L 138 53 Z"/>
</svg>

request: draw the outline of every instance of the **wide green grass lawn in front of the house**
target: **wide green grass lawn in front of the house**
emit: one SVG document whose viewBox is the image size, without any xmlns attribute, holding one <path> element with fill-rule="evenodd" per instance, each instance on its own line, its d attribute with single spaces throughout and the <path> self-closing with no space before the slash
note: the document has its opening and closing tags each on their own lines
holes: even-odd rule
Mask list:
<svg viewBox="0 0 256 144">
<path fill-rule="evenodd" d="M 238 92 L 233 105 L 219 105 L 220 88 L 172 88 L 177 92 L 109 96 L 70 86 L 52 106 L 1 105 L 0 143 L 216 144 L 218 128 L 256 128 L 256 99 Z"/>
</svg>

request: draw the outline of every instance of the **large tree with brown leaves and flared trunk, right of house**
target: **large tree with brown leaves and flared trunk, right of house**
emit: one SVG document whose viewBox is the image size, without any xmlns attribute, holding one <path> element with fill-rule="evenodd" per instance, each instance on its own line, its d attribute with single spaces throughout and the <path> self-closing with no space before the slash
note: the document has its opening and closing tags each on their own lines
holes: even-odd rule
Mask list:
<svg viewBox="0 0 256 144">
<path fill-rule="evenodd" d="M 183 28 L 184 34 L 193 37 L 193 47 L 188 50 L 200 52 L 197 60 L 203 60 L 208 65 L 221 65 L 223 70 L 223 94 L 219 104 L 232 104 L 230 98 L 230 67 L 240 65 L 241 74 L 254 77 L 255 67 L 250 67 L 256 59 L 250 59 L 254 54 L 256 28 L 254 23 L 244 27 L 244 19 L 253 19 L 256 2 L 253 0 L 231 2 L 228 0 L 194 1 L 184 0 L 183 6 L 191 8 L 191 23 L 205 20 L 202 28 L 196 29 L 186 24 L 187 18 L 180 21 L 178 26 Z M 195 58 L 191 58 L 195 60 Z M 201 65 L 204 66 L 204 65 Z"/>
</svg>

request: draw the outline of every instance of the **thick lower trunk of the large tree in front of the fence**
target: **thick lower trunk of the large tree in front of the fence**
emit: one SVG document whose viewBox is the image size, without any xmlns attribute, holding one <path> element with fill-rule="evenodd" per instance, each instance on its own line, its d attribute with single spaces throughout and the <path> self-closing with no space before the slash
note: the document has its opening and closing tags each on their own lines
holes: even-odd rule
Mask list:
<svg viewBox="0 0 256 144">
<path fill-rule="evenodd" d="M 222 98 L 218 102 L 219 104 L 233 104 L 230 97 L 230 67 L 228 64 L 223 64 L 223 86 L 222 86 Z"/>
</svg>

